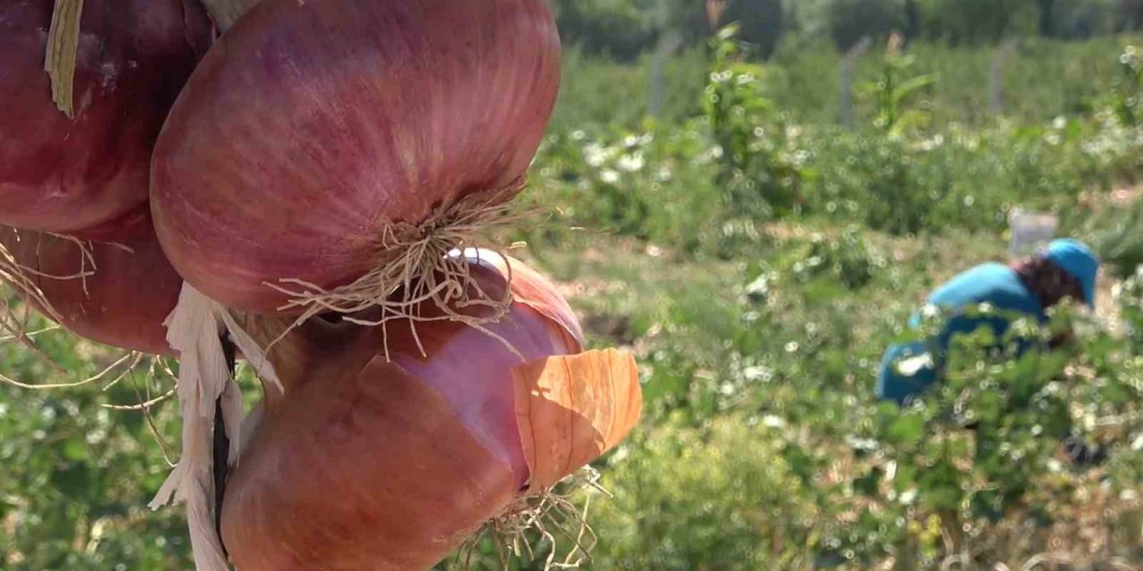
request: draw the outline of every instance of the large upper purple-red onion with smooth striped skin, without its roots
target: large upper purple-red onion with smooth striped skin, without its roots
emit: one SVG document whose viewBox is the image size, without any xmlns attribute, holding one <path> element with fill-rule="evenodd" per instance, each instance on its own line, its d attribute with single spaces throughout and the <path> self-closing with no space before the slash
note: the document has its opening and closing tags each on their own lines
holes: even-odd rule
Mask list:
<svg viewBox="0 0 1143 571">
<path fill-rule="evenodd" d="M 238 309 L 286 303 L 267 282 L 345 286 L 389 259 L 393 223 L 517 185 L 559 57 L 544 0 L 264 0 L 210 49 L 159 137 L 163 248 Z"/>
</svg>

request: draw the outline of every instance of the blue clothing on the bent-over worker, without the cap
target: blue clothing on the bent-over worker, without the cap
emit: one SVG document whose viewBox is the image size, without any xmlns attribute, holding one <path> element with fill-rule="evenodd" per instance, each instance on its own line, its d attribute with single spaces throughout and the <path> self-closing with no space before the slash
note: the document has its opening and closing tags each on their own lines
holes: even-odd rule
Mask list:
<svg viewBox="0 0 1143 571">
<path fill-rule="evenodd" d="M 1004 336 L 1010 325 L 1004 315 L 978 316 L 965 311 L 981 304 L 990 304 L 1000 313 L 1020 313 L 1047 320 L 1040 299 L 1028 290 L 1020 278 L 1002 264 L 976 266 L 942 286 L 928 298 L 930 305 L 949 312 L 941 332 L 927 341 L 898 344 L 889 347 L 881 362 L 877 383 L 877 396 L 903 404 L 909 397 L 925 392 L 941 377 L 944 354 L 952 337 L 972 333 L 981 327 L 989 327 L 997 336 Z M 921 316 L 914 314 L 910 327 L 920 327 Z M 1028 348 L 1023 346 L 1022 348 Z"/>
</svg>

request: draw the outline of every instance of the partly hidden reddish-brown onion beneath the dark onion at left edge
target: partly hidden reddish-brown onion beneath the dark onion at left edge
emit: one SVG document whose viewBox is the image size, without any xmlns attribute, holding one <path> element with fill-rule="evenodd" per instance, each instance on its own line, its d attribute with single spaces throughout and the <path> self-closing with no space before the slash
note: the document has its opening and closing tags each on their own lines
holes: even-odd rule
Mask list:
<svg viewBox="0 0 1143 571">
<path fill-rule="evenodd" d="M 0 227 L 0 244 L 26 268 L 22 273 L 42 291 L 67 330 L 114 347 L 170 354 L 162 322 L 178 301 L 182 278 L 167 262 L 146 207 L 111 227 L 79 235 L 88 240 L 95 270 L 85 265 L 75 242 L 51 234 Z M 114 236 L 114 242 L 99 241 L 106 236 Z M 87 278 L 63 279 L 85 267 L 90 272 Z"/>
</svg>

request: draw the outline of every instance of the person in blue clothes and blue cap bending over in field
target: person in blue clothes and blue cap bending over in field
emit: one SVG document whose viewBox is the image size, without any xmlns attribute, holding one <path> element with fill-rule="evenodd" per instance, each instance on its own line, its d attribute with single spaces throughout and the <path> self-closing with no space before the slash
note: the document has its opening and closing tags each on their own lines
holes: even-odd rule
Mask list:
<svg viewBox="0 0 1143 571">
<path fill-rule="evenodd" d="M 894 345 L 886 352 L 877 383 L 878 399 L 905 404 L 938 383 L 945 353 L 956 335 L 989 327 L 1000 338 L 1010 325 L 1010 315 L 1016 314 L 1036 317 L 1042 324 L 1048 320 L 1048 308 L 1066 298 L 1094 308 L 1098 271 L 1100 260 L 1090 249 L 1076 240 L 1062 239 L 1010 266 L 982 264 L 957 275 L 928 298 L 929 306 L 949 315 L 936 337 Z M 997 312 L 968 314 L 967 309 L 982 304 L 991 305 Z M 920 323 L 921 314 L 917 313 L 910 327 L 917 329 Z M 1021 351 L 1030 347 L 1030 344 L 1022 344 Z M 1070 455 L 1090 452 L 1071 440 L 1065 441 Z"/>
</svg>

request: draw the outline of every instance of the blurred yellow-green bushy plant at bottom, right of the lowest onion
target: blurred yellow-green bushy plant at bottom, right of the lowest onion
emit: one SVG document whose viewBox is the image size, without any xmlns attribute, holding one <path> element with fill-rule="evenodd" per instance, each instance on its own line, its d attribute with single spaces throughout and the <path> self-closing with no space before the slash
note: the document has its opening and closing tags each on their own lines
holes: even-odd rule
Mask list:
<svg viewBox="0 0 1143 571">
<path fill-rule="evenodd" d="M 799 569 L 813 553 L 812 507 L 782 461 L 782 439 L 759 419 L 702 431 L 674 417 L 621 452 L 604 485 L 599 569 Z M 670 473 L 670 478 L 658 474 Z M 749 477 L 738 475 L 750 474 Z"/>
</svg>

